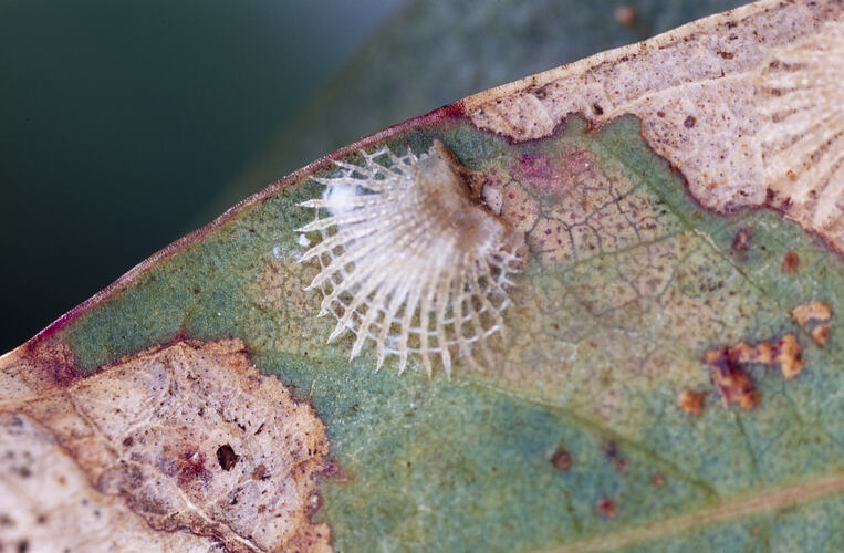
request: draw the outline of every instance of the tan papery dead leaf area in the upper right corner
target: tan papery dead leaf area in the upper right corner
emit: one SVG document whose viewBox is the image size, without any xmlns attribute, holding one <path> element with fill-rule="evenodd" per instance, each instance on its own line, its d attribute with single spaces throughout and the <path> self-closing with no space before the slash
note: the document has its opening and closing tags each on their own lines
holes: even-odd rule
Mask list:
<svg viewBox="0 0 844 553">
<path fill-rule="evenodd" d="M 477 94 L 466 111 L 518 142 L 569 114 L 595 127 L 635 115 L 706 208 L 771 207 L 842 251 L 840 12 L 834 1 L 751 4 Z"/>
</svg>

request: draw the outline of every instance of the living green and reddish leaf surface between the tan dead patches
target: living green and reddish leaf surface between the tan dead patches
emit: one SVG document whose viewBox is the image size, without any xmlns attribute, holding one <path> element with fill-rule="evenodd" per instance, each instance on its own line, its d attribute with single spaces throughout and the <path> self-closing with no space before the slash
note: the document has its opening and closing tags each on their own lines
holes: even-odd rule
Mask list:
<svg viewBox="0 0 844 553">
<path fill-rule="evenodd" d="M 84 374 L 159 344 L 239 338 L 311 404 L 332 469 L 314 520 L 337 551 L 838 551 L 844 544 L 844 260 L 770 209 L 718 213 L 624 116 L 570 115 L 513 142 L 452 106 L 340 150 L 441 140 L 523 225 L 492 363 L 376 371 L 326 344 L 296 229 L 319 161 L 239 205 L 48 328 Z M 311 237 L 313 238 L 313 237 Z M 746 241 L 741 241 L 741 240 Z M 784 262 L 791 259 L 796 263 Z M 792 311 L 833 311 L 829 341 Z M 795 336 L 803 368 L 740 363 L 758 405 L 729 403 L 707 352 Z M 777 347 L 781 347 L 777 346 Z M 784 362 L 780 362 L 782 364 Z M 739 365 L 737 363 L 737 365 Z M 783 369 L 784 371 L 784 369 Z M 699 414 L 678 405 L 700 394 Z"/>
</svg>

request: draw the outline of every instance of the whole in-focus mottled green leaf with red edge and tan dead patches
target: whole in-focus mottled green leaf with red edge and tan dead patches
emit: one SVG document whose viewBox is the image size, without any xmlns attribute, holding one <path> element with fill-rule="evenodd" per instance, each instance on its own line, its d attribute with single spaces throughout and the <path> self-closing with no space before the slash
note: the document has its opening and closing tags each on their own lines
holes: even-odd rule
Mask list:
<svg viewBox="0 0 844 553">
<path fill-rule="evenodd" d="M 77 498 L 63 478 L 133 536 L 194 540 L 178 547 L 840 550 L 843 8 L 762 1 L 470 96 L 145 261 L 0 361 L 0 504 L 27 532 L 3 540 L 55 539 L 7 498 Z M 393 171 L 418 210 L 396 195 L 383 220 L 355 211 L 397 190 L 381 148 L 419 164 Z M 510 251 L 498 223 L 436 204 L 455 190 L 523 232 L 507 332 L 455 331 L 450 378 L 415 353 L 398 375 L 400 340 L 375 371 L 377 335 L 350 361 L 381 317 L 434 332 L 436 309 L 378 295 L 390 274 L 413 298 L 488 259 L 439 268 L 437 252 Z M 331 225 L 296 231 L 302 202 Z M 372 234 L 347 234 L 348 213 Z M 306 286 L 340 250 L 302 257 L 414 229 L 429 262 L 378 261 L 366 310 L 326 344 L 352 307 L 317 317 L 323 293 L 357 293 L 368 258 L 321 291 Z M 470 299 L 442 312 L 490 313 L 489 279 L 462 282 L 449 298 Z"/>
</svg>

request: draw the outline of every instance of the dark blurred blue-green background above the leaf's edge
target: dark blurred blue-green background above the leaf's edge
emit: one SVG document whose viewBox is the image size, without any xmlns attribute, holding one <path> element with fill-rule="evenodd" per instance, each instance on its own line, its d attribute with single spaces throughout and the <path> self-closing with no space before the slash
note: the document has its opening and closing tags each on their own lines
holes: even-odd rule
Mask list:
<svg viewBox="0 0 844 553">
<path fill-rule="evenodd" d="M 0 353 L 355 138 L 737 0 L 0 0 Z"/>
</svg>

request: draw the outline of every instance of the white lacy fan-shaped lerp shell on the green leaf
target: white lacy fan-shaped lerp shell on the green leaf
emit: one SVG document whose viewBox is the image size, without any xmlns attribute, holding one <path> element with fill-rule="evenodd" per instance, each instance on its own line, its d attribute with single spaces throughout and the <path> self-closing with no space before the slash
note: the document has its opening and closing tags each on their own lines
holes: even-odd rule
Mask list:
<svg viewBox="0 0 844 553">
<path fill-rule="evenodd" d="M 452 349 L 475 364 L 472 348 L 486 355 L 483 341 L 503 333 L 523 233 L 482 204 L 439 140 L 418 156 L 386 147 L 361 156 L 363 165 L 335 161 L 337 177 L 315 177 L 322 198 L 300 204 L 316 215 L 299 231 L 321 234 L 301 262 L 320 262 L 306 289 L 323 293 L 320 316 L 337 319 L 329 342 L 351 331 L 354 358 L 369 338 L 377 367 L 396 355 L 399 374 L 410 354 L 428 375 L 431 356 L 450 375 Z"/>
</svg>

